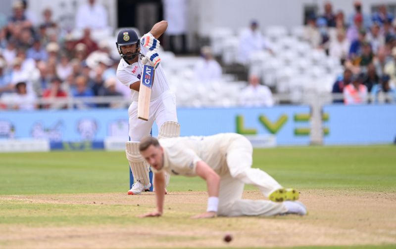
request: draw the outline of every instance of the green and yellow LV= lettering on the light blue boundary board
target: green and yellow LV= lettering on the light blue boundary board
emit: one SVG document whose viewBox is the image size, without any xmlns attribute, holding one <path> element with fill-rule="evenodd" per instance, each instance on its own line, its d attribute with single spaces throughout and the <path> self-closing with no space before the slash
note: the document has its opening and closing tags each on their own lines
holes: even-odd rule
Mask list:
<svg viewBox="0 0 396 249">
<path fill-rule="evenodd" d="M 310 114 L 295 114 L 294 122 L 295 123 L 309 122 L 310 117 L 311 117 Z M 282 127 L 288 122 L 288 119 L 289 117 L 286 114 L 282 114 L 274 122 L 269 120 L 265 115 L 258 116 L 258 121 L 260 122 L 260 124 L 263 125 L 263 127 L 266 130 L 268 130 L 268 132 L 271 134 L 277 134 L 282 129 Z M 322 115 L 322 121 L 326 122 L 328 120 L 329 120 L 329 114 L 324 113 Z M 258 133 L 256 128 L 245 127 L 245 118 L 242 115 L 237 115 L 236 117 L 236 129 L 237 129 L 237 133 L 243 135 L 255 135 Z M 296 127 L 294 129 L 295 135 L 308 136 L 309 133 L 310 133 L 310 127 Z M 325 135 L 328 135 L 329 128 L 323 127 L 323 133 Z"/>
</svg>

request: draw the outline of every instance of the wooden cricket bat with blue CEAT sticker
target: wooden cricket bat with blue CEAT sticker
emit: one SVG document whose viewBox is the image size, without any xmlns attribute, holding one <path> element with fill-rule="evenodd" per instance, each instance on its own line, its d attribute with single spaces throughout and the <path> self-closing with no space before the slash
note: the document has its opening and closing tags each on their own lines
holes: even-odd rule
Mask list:
<svg viewBox="0 0 396 249">
<path fill-rule="evenodd" d="M 152 83 L 154 82 L 154 68 L 148 65 L 143 66 L 142 78 L 140 79 L 138 118 L 148 121 L 150 112 L 150 97 Z"/>
</svg>

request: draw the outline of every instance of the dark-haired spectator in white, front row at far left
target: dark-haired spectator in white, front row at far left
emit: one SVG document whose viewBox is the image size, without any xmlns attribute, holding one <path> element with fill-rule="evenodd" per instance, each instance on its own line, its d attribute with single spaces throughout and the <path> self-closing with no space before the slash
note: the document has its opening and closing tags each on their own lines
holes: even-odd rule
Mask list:
<svg viewBox="0 0 396 249">
<path fill-rule="evenodd" d="M 10 103 L 11 108 L 15 110 L 34 110 L 37 109 L 36 95 L 27 91 L 25 82 L 15 84 L 15 93 L 12 93 L 10 99 L 6 102 Z"/>
</svg>

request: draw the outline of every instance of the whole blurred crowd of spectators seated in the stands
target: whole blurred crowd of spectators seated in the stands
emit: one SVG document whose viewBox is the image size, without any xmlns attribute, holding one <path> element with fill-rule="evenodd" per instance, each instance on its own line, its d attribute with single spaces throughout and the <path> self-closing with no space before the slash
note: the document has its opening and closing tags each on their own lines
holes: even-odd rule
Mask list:
<svg viewBox="0 0 396 249">
<path fill-rule="evenodd" d="M 343 11 L 334 12 L 332 3 L 326 2 L 324 13 L 307 17 L 304 39 L 342 62 L 345 71 L 337 78 L 332 92 L 343 93 L 345 104 L 395 102 L 396 18 L 385 5 L 371 15 L 362 12 L 360 1 L 354 2 L 354 9 L 354 13 L 346 16 Z M 93 31 L 108 27 L 107 18 L 103 17 L 107 17 L 106 9 L 95 0 L 82 4 L 75 17 L 75 29 L 82 31 L 82 37 L 77 39 L 57 25 L 50 8 L 44 9 L 42 21 L 38 22 L 28 11 L 26 0 L 15 1 L 10 16 L 0 16 L 0 109 L 66 107 L 64 103 L 37 104 L 38 98 L 123 96 L 129 99 L 130 90 L 115 78 L 119 57 L 110 55 L 115 47 L 92 38 Z M 258 31 L 252 30 L 251 35 L 254 32 Z M 248 40 L 248 34 L 242 36 L 241 39 Z M 257 43 L 252 46 L 272 53 L 263 46 L 265 42 L 250 41 Z M 202 49 L 202 56 L 206 62 L 196 65 L 197 78 L 205 81 L 221 75 L 221 68 L 210 51 Z M 200 72 L 210 71 L 205 64 L 209 62 L 214 76 L 206 77 Z M 269 88 L 256 90 L 261 85 L 251 75 L 249 82 L 243 91 L 244 103 L 272 106 Z M 263 92 L 267 100 L 250 101 L 250 96 L 259 99 L 258 92 Z M 373 96 L 371 100 L 367 98 L 369 93 Z M 89 102 L 76 107 L 109 105 Z"/>
</svg>

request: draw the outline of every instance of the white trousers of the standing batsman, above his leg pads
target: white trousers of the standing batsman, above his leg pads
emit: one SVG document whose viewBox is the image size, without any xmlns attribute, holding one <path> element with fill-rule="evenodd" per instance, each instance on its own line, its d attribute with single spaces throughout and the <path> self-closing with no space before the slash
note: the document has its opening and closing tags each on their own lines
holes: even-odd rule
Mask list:
<svg viewBox="0 0 396 249">
<path fill-rule="evenodd" d="M 150 102 L 148 121 L 138 119 L 138 102 L 131 103 L 128 109 L 129 137 L 132 142 L 139 142 L 144 136 L 150 134 L 152 124 L 158 126 L 167 121 L 177 122 L 176 97 L 170 90 L 163 92 L 158 98 Z"/>
</svg>

